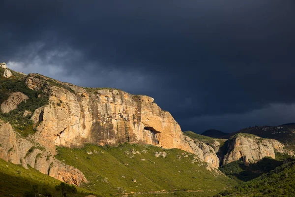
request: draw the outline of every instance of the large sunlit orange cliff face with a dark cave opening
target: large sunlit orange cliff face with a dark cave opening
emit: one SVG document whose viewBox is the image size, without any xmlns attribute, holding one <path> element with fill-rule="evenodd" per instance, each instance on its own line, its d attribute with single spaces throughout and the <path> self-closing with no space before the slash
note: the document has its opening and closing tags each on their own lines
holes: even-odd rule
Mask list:
<svg viewBox="0 0 295 197">
<path fill-rule="evenodd" d="M 195 153 L 218 167 L 216 155 L 206 159 L 205 149 L 188 143 L 172 115 L 148 96 L 82 88 L 38 74 L 29 74 L 25 84 L 49 94 L 49 104 L 35 110 L 31 119 L 38 125 L 34 138 L 53 153 L 55 145 L 146 143 Z"/>
</svg>

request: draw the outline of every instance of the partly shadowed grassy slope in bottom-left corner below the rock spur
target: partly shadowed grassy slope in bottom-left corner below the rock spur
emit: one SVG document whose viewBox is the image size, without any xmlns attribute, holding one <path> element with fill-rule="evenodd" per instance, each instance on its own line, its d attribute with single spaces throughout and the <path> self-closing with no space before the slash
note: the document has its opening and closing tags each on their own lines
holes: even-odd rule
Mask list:
<svg viewBox="0 0 295 197">
<path fill-rule="evenodd" d="M 0 197 L 35 197 L 36 193 L 45 197 L 60 197 L 61 192 L 67 193 L 67 197 L 91 194 L 83 188 L 61 183 L 34 168 L 25 169 L 0 159 Z"/>
</svg>

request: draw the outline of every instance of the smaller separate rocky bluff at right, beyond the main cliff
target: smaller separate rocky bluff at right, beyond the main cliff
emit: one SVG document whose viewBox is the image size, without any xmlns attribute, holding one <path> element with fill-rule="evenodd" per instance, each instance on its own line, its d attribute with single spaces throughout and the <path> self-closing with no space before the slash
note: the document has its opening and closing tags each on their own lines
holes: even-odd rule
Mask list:
<svg viewBox="0 0 295 197">
<path fill-rule="evenodd" d="M 227 154 L 223 164 L 238 161 L 245 165 L 256 163 L 264 157 L 275 159 L 275 152 L 284 153 L 284 145 L 274 139 L 264 139 L 256 135 L 238 133 L 228 140 Z"/>
</svg>

